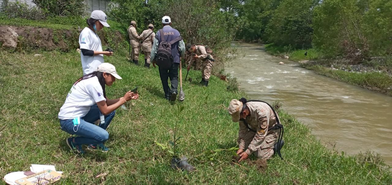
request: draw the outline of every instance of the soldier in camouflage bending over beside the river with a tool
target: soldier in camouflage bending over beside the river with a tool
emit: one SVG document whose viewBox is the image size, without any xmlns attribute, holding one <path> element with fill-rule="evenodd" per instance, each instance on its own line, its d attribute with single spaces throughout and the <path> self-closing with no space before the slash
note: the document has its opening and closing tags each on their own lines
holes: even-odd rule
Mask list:
<svg viewBox="0 0 392 185">
<path fill-rule="evenodd" d="M 203 45 L 192 45 L 192 44 L 187 44 L 187 50 L 190 51 L 193 55 L 191 57 L 191 60 L 188 63 L 188 71 L 191 69 L 191 66 L 194 61 L 197 59 L 200 59 L 203 61 L 202 68 L 201 68 L 201 84 L 204 86 L 208 86 L 208 82 L 211 76 L 211 71 L 212 71 L 212 62 L 214 62 L 214 57 L 212 57 L 211 54 L 207 53 L 205 46 Z"/>
</svg>

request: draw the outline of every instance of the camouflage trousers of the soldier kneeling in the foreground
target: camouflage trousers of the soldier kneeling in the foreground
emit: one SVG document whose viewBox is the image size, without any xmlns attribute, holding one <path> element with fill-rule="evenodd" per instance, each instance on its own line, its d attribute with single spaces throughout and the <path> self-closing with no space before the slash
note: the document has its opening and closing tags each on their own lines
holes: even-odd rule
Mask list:
<svg viewBox="0 0 392 185">
<path fill-rule="evenodd" d="M 256 134 L 254 132 L 249 131 L 245 136 L 245 149 L 249 147 L 250 142 L 252 142 L 254 136 Z M 253 152 L 254 156 L 260 159 L 269 159 L 274 155 L 274 144 L 278 141 L 279 132 L 272 132 L 271 134 L 267 134 L 260 148 L 258 148 L 255 152 Z"/>
</svg>

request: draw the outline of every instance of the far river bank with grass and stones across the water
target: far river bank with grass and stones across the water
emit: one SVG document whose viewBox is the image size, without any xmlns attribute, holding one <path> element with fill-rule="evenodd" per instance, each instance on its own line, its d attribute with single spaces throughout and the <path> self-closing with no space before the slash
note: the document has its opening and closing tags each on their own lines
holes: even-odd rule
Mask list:
<svg viewBox="0 0 392 185">
<path fill-rule="evenodd" d="M 274 56 L 288 56 L 288 60 L 299 62 L 302 67 L 318 74 L 392 96 L 392 68 L 388 62 L 385 62 L 388 59 L 374 58 L 370 62 L 350 65 L 347 60 L 320 59 L 315 49 L 293 51 L 267 44 L 265 51 Z"/>
</svg>

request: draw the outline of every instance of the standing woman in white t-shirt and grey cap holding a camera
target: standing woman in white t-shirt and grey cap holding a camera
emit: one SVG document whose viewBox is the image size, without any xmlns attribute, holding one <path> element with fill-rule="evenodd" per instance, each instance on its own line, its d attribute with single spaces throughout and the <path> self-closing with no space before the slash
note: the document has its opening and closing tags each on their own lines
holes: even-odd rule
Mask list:
<svg viewBox="0 0 392 185">
<path fill-rule="evenodd" d="M 83 75 L 97 70 L 98 65 L 103 63 L 103 55 L 112 56 L 113 52 L 102 51 L 102 43 L 96 31 L 103 26 L 110 27 L 106 22 L 106 14 L 100 10 L 94 10 L 91 18 L 87 19 L 88 27 L 85 27 L 79 36 L 80 58 L 82 60 Z"/>
</svg>

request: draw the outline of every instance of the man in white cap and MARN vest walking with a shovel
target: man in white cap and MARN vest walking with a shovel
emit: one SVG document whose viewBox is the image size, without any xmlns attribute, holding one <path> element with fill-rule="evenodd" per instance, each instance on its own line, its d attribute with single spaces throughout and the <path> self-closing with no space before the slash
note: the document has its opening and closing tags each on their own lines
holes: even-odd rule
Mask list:
<svg viewBox="0 0 392 185">
<path fill-rule="evenodd" d="M 164 16 L 162 18 L 162 33 L 165 42 L 170 42 L 176 40 L 181 36 L 180 32 L 171 27 L 171 20 L 169 16 Z M 158 46 L 160 45 L 161 31 L 158 31 L 155 35 L 154 44 L 152 45 L 151 50 L 151 58 L 153 58 L 152 65 L 155 67 L 156 63 L 156 53 L 158 51 Z M 178 66 L 180 65 L 180 56 L 184 56 L 185 54 L 185 44 L 181 39 L 178 42 L 171 44 L 171 58 L 172 65 L 169 66 L 169 69 L 164 67 L 159 67 L 159 75 L 162 81 L 163 91 L 165 92 L 165 98 L 167 100 L 175 101 L 177 98 L 177 86 L 178 86 Z M 170 78 L 171 88 L 169 87 L 169 83 L 167 79 Z"/>
</svg>

